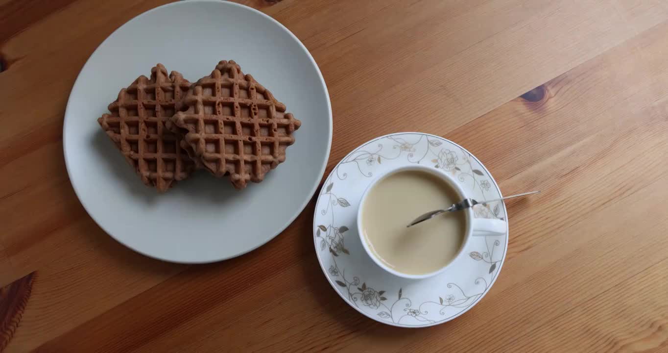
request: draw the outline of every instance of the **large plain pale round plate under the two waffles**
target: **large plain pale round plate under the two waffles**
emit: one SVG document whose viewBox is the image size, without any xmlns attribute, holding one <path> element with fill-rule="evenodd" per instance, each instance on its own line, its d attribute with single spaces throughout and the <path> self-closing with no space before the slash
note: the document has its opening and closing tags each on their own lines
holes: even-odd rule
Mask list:
<svg viewBox="0 0 668 353">
<path fill-rule="evenodd" d="M 301 120 L 296 142 L 263 183 L 236 191 L 200 171 L 159 195 L 96 119 L 157 63 L 195 82 L 220 60 L 236 61 Z M 295 35 L 250 7 L 180 1 L 128 21 L 90 56 L 67 102 L 63 144 L 74 191 L 102 229 L 150 257 L 204 263 L 263 245 L 299 215 L 323 176 L 331 134 L 325 81 Z"/>
</svg>

